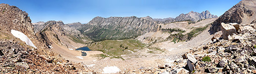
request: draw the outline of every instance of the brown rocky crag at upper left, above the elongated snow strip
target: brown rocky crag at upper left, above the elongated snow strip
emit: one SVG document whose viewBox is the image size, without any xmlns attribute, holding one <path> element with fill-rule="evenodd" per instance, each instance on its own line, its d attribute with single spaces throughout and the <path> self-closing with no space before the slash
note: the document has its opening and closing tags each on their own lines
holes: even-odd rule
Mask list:
<svg viewBox="0 0 256 74">
<path fill-rule="evenodd" d="M 4 3 L 0 4 L 0 29 L 8 34 L 11 30 L 17 30 L 28 37 L 35 35 L 28 13 Z"/>
</svg>

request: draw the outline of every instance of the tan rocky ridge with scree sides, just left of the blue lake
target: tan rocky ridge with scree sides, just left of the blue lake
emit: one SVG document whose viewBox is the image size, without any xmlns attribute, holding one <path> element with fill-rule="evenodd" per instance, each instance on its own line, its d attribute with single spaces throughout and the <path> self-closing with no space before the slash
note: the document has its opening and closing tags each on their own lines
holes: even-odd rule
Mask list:
<svg viewBox="0 0 256 74">
<path fill-rule="evenodd" d="M 41 24 L 33 23 L 33 26 L 36 28 L 36 26 Z M 75 49 L 91 41 L 91 39 L 82 35 L 78 30 L 71 28 L 70 26 L 72 25 L 65 25 L 62 21 L 48 21 L 43 23 L 43 25 L 45 27 L 37 34 L 42 35 L 49 45 L 57 43 L 66 48 Z"/>
</svg>

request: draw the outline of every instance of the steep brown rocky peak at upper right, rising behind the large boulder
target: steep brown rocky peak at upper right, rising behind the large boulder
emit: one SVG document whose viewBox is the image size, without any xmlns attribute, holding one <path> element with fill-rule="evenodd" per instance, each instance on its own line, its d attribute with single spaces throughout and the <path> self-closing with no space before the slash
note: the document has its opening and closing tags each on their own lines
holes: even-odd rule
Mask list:
<svg viewBox="0 0 256 74">
<path fill-rule="evenodd" d="M 223 15 L 221 15 L 213 24 L 212 31 L 220 31 L 220 24 L 224 23 L 238 23 L 250 24 L 256 21 L 256 0 L 242 0 Z M 213 34 L 213 33 L 212 33 Z"/>
</svg>

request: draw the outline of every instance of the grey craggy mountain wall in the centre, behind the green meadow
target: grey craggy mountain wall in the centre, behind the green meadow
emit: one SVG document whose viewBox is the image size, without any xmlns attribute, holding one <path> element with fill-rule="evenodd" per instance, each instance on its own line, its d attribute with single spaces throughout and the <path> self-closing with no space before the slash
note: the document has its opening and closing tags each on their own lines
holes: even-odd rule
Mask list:
<svg viewBox="0 0 256 74">
<path fill-rule="evenodd" d="M 156 31 L 157 23 L 149 16 L 95 17 L 78 30 L 94 40 L 124 39 Z"/>
</svg>

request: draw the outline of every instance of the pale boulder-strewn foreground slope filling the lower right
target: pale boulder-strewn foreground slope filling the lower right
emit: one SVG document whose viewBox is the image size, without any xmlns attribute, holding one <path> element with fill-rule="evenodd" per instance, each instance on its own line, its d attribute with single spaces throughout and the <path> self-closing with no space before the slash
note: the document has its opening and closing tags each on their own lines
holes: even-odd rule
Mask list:
<svg viewBox="0 0 256 74">
<path fill-rule="evenodd" d="M 131 74 L 255 74 L 256 24 L 221 24 L 212 42 L 192 48 L 173 63 L 128 72 Z"/>
</svg>

